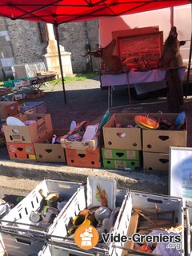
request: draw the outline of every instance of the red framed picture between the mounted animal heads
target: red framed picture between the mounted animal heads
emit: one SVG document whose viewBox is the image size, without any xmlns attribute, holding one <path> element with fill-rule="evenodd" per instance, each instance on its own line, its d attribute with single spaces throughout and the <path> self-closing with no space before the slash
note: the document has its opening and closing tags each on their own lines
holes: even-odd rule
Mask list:
<svg viewBox="0 0 192 256">
<path fill-rule="evenodd" d="M 117 39 L 119 58 L 124 60 L 123 64 L 126 66 L 130 68 L 138 67 L 138 59 L 145 59 L 150 62 L 151 67 L 158 65 L 163 49 L 162 31 L 119 37 Z"/>
</svg>

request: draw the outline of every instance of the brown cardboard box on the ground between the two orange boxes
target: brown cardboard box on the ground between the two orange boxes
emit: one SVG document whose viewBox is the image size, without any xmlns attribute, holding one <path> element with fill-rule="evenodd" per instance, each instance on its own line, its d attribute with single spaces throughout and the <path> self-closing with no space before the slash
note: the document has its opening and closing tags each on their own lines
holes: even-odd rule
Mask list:
<svg viewBox="0 0 192 256">
<path fill-rule="evenodd" d="M 52 130 L 42 138 L 42 142 L 34 143 L 34 150 L 38 162 L 63 162 L 66 163 L 65 149 L 62 144 L 51 144 L 53 135 L 57 137 L 66 134 L 68 130 L 58 129 Z M 46 144 L 46 141 L 50 141 Z"/>
</svg>

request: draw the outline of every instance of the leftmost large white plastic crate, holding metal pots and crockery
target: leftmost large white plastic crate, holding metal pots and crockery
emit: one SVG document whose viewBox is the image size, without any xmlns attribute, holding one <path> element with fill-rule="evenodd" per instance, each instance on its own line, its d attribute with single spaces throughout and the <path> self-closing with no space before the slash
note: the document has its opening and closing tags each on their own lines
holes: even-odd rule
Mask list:
<svg viewBox="0 0 192 256">
<path fill-rule="evenodd" d="M 30 221 L 30 215 L 35 211 L 41 213 L 46 203 L 39 192 L 40 190 L 43 190 L 43 194 L 62 194 L 66 201 L 66 205 L 54 218 L 54 221 L 48 223 L 48 225 L 42 221 L 35 223 Z M 23 255 L 38 254 L 46 242 L 46 234 L 49 230 L 54 230 L 61 214 L 70 206 L 75 194 L 81 190 L 84 193 L 82 182 L 66 182 L 53 179 L 45 179 L 40 182 L 30 194 L 1 219 L 0 233 L 8 254 L 11 256 L 18 256 L 21 252 Z"/>
</svg>

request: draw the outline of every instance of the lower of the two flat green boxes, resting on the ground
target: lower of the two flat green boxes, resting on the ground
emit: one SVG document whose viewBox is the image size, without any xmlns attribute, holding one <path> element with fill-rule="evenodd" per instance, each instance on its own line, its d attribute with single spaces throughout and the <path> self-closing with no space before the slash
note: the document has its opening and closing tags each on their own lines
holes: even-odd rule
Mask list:
<svg viewBox="0 0 192 256">
<path fill-rule="evenodd" d="M 135 170 L 141 167 L 139 160 L 114 160 L 102 158 L 103 167 L 114 170 Z"/>
</svg>

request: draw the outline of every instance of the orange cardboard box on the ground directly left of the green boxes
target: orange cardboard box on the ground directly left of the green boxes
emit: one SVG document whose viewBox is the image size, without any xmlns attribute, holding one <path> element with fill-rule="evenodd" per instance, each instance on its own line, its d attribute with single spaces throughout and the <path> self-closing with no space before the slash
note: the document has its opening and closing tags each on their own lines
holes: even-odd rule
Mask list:
<svg viewBox="0 0 192 256">
<path fill-rule="evenodd" d="M 101 146 L 96 150 L 66 149 L 66 162 L 68 166 L 100 168 L 102 166 Z"/>
</svg>

